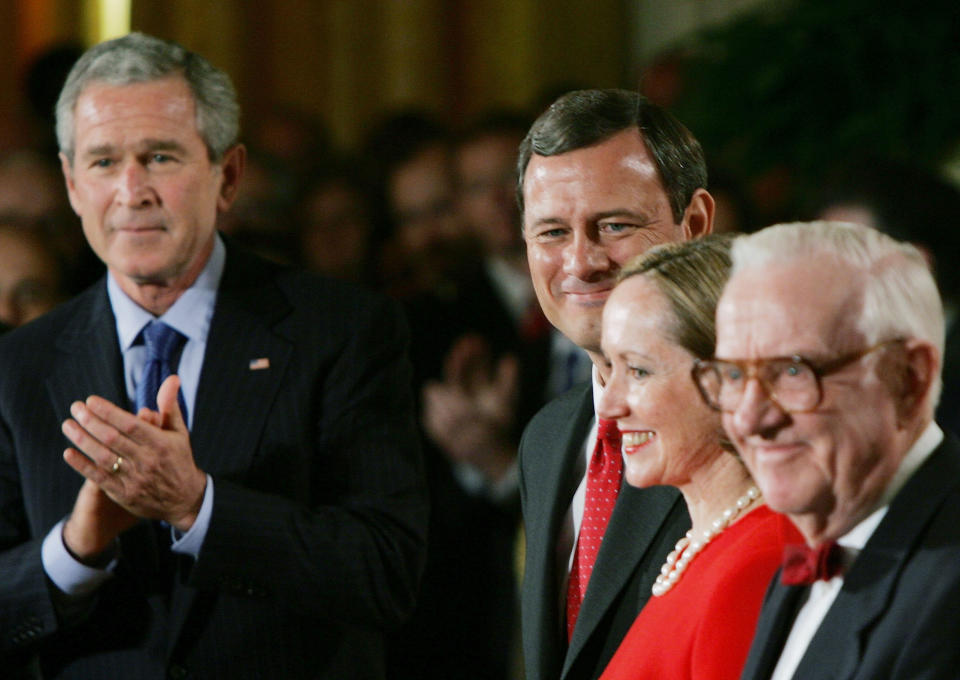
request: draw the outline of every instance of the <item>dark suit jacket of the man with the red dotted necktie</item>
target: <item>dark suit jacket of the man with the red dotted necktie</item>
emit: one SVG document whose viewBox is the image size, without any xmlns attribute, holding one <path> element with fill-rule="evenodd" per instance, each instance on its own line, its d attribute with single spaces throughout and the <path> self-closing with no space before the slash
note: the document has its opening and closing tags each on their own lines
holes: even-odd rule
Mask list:
<svg viewBox="0 0 960 680">
<path fill-rule="evenodd" d="M 569 555 L 557 554 L 557 541 L 580 482 L 577 458 L 593 417 L 590 384 L 574 387 L 534 417 L 520 444 L 527 680 L 598 677 L 649 599 L 667 553 L 690 528 L 676 489 L 636 489 L 624 481 L 568 648 L 560 584 Z"/>
</svg>

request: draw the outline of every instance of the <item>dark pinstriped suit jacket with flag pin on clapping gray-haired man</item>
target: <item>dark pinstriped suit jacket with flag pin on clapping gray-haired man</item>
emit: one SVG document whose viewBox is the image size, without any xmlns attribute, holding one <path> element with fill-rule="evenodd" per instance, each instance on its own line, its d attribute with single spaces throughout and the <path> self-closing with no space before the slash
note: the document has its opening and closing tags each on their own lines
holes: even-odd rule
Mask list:
<svg viewBox="0 0 960 680">
<path fill-rule="evenodd" d="M 82 482 L 60 423 L 89 394 L 127 404 L 105 282 L 4 336 L 0 667 L 35 654 L 44 677 L 381 677 L 425 543 L 405 350 L 379 297 L 228 249 L 191 432 L 214 478 L 199 558 L 143 522 L 67 621 L 40 559 Z"/>
</svg>

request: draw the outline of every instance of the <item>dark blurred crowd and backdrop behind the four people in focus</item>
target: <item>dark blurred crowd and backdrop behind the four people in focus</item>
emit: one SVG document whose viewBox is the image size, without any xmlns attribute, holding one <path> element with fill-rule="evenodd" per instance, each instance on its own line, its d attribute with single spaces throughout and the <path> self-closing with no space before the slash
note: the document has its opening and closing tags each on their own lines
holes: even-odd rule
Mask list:
<svg viewBox="0 0 960 680">
<path fill-rule="evenodd" d="M 29 321 L 102 274 L 52 124 L 73 60 L 111 37 L 98 19 L 128 12 L 128 30 L 224 68 L 250 155 L 221 229 L 408 313 L 434 507 L 420 609 L 393 651 L 408 677 L 450 677 L 445 650 L 458 677 L 516 677 L 518 438 L 590 370 L 539 312 L 516 208 L 517 146 L 556 95 L 639 88 L 675 113 L 705 147 L 717 231 L 864 221 L 921 245 L 951 313 L 960 299 L 954 1 L 118 5 L 0 9 L 14 47 L 0 57 L 0 321 Z"/>
</svg>

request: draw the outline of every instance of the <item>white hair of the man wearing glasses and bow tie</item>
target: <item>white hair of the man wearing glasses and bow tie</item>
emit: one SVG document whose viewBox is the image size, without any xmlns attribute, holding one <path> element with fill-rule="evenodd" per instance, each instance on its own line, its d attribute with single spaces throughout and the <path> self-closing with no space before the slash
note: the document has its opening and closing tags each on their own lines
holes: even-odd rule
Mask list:
<svg viewBox="0 0 960 680">
<path fill-rule="evenodd" d="M 943 361 L 943 302 L 930 265 L 919 250 L 875 229 L 846 222 L 777 224 L 736 239 L 732 275 L 744 269 L 797 259 L 833 257 L 863 276 L 856 328 L 867 344 L 918 338 L 937 348 Z M 940 397 L 939 376 L 930 403 Z"/>
</svg>

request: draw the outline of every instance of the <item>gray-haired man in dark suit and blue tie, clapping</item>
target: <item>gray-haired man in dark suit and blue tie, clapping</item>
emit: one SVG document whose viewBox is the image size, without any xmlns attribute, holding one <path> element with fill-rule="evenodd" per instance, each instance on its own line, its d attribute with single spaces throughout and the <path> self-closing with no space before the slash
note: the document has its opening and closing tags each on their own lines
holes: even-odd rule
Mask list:
<svg viewBox="0 0 960 680">
<path fill-rule="evenodd" d="M 225 74 L 140 34 L 64 85 L 108 273 L 0 347 L 0 667 L 384 674 L 425 540 L 403 323 L 221 239 L 237 119 Z"/>
</svg>

